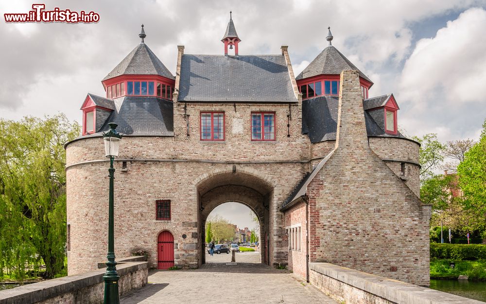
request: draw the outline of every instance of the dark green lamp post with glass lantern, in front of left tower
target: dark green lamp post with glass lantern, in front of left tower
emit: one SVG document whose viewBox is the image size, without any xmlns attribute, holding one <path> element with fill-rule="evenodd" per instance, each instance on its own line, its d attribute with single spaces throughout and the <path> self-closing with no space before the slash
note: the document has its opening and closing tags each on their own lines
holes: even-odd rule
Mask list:
<svg viewBox="0 0 486 304">
<path fill-rule="evenodd" d="M 115 168 L 113 168 L 113 161 L 118 157 L 118 149 L 120 147 L 121 134 L 115 130 L 118 126 L 115 123 L 109 123 L 110 129 L 103 133 L 104 150 L 106 157 L 110 158 L 110 168 L 108 169 L 110 177 L 110 193 L 108 206 L 108 254 L 106 258 L 106 272 L 104 273 L 104 304 L 120 304 L 120 296 L 118 294 L 118 280 L 120 276 L 117 272 L 117 262 L 115 262 L 115 237 L 114 237 L 114 206 L 113 206 L 113 179 L 115 179 Z"/>
</svg>

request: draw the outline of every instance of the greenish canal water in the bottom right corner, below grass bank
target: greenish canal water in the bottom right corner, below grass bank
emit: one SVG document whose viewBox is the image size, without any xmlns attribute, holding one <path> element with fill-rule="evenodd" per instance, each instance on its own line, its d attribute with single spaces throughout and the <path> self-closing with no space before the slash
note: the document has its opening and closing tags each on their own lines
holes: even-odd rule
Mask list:
<svg viewBox="0 0 486 304">
<path fill-rule="evenodd" d="M 486 281 L 430 280 L 430 288 L 486 302 Z"/>
</svg>

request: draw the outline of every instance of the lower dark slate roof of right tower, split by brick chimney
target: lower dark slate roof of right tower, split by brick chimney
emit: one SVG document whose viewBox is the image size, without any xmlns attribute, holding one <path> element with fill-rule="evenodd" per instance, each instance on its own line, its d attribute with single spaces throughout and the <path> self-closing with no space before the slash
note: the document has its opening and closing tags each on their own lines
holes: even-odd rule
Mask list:
<svg viewBox="0 0 486 304">
<path fill-rule="evenodd" d="M 311 143 L 336 139 L 338 104 L 337 96 L 319 96 L 302 101 L 302 134 L 308 134 Z M 368 136 L 405 138 L 401 133 L 385 133 L 366 110 L 364 122 Z"/>
</svg>

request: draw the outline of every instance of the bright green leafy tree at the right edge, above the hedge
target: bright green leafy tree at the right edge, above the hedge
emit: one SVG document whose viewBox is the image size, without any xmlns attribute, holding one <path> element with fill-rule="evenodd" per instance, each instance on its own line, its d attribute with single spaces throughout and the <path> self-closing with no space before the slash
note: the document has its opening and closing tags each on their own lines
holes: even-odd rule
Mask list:
<svg viewBox="0 0 486 304">
<path fill-rule="evenodd" d="M 457 167 L 459 185 L 464 192 L 466 209 L 474 212 L 478 221 L 486 219 L 486 121 L 479 142 L 465 153 Z M 486 235 L 485 235 L 486 236 Z"/>
</svg>

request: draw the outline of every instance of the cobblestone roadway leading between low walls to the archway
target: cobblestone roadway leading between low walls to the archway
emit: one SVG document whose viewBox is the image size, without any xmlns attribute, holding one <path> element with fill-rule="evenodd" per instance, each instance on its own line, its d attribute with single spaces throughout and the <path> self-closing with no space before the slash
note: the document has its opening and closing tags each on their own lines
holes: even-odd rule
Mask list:
<svg viewBox="0 0 486 304">
<path fill-rule="evenodd" d="M 231 254 L 219 258 L 226 256 L 230 261 Z M 255 256 L 260 260 L 259 254 L 241 252 L 240 260 Z M 260 263 L 220 262 L 194 270 L 152 270 L 148 281 L 147 286 L 123 297 L 121 304 L 337 304 L 316 287 L 301 284 L 287 270 Z"/>
</svg>

